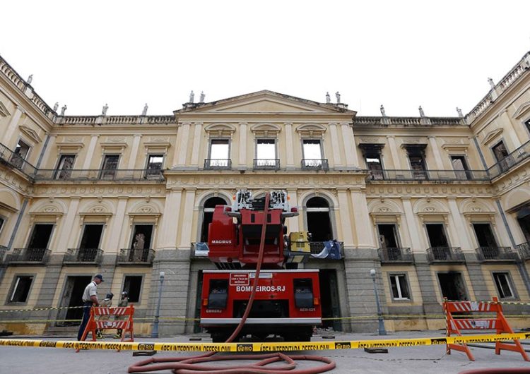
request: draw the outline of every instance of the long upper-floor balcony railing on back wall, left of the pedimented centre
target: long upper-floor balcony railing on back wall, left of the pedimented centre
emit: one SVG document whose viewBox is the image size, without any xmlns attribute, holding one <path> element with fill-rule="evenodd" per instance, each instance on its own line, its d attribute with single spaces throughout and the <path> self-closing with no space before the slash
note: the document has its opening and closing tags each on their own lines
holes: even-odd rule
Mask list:
<svg viewBox="0 0 530 374">
<path fill-rule="evenodd" d="M 160 169 L 39 169 L 35 181 L 164 181 Z"/>
</svg>

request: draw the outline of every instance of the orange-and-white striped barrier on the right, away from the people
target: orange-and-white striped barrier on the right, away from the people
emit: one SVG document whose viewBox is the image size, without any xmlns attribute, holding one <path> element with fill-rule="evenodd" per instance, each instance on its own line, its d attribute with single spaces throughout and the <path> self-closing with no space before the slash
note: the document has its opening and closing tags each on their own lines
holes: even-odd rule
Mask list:
<svg viewBox="0 0 530 374">
<path fill-rule="evenodd" d="M 498 302 L 499 300 L 496 297 L 493 298 L 493 302 L 447 301 L 447 298 L 445 298 L 444 312 L 447 336 L 450 337 L 451 334 L 462 336 L 461 330 L 496 330 L 497 334 L 502 334 L 503 332 L 513 334 L 514 330 L 508 325 L 508 321 L 502 314 L 502 305 Z M 453 315 L 453 313 L 470 315 L 473 312 L 481 314 L 496 313 L 496 316 L 495 318 L 468 318 L 467 316 L 466 318 L 459 318 L 459 315 Z M 451 354 L 451 349 L 464 352 L 470 361 L 475 361 L 467 344 L 447 344 L 447 354 Z M 524 361 L 530 361 L 518 339 L 514 339 L 514 344 L 495 342 L 495 354 L 500 354 L 502 349 L 519 352 L 523 356 Z"/>
</svg>

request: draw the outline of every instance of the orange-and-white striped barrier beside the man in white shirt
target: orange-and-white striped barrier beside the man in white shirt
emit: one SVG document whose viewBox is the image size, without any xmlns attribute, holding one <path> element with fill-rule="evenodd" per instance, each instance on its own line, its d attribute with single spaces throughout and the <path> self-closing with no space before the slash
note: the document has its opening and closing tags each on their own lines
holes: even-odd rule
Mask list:
<svg viewBox="0 0 530 374">
<path fill-rule="evenodd" d="M 102 316 L 110 318 L 112 315 L 114 320 L 101 319 Z M 121 342 L 134 342 L 133 316 L 134 306 L 93 306 L 90 308 L 90 318 L 81 340 L 85 340 L 89 332 L 92 332 L 92 341 L 95 342 L 97 330 L 122 329 Z M 129 333 L 129 339 L 125 339 L 127 332 Z"/>
</svg>

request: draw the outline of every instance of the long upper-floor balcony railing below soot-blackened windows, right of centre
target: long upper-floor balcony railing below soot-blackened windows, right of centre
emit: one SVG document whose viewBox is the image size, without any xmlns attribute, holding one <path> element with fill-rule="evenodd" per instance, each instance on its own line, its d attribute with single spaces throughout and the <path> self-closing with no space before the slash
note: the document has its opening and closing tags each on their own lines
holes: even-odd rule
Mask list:
<svg viewBox="0 0 530 374">
<path fill-rule="evenodd" d="M 370 170 L 368 181 L 490 181 L 485 170 Z"/>
</svg>

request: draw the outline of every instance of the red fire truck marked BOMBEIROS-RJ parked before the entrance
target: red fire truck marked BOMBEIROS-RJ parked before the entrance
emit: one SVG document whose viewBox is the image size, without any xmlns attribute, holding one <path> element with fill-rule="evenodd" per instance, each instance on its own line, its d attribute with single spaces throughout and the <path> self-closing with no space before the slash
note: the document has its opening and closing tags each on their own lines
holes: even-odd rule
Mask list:
<svg viewBox="0 0 530 374">
<path fill-rule="evenodd" d="M 213 342 L 225 342 L 245 313 L 262 237 L 254 303 L 236 339 L 275 334 L 289 342 L 310 341 L 313 327 L 322 324 L 319 270 L 298 269 L 310 255 L 307 233 L 287 235 L 285 226 L 285 218 L 298 215 L 298 209 L 289 206 L 285 191 L 271 191 L 267 209 L 265 202 L 266 198 L 253 198 L 250 191 L 241 190 L 231 206 L 214 209 L 208 258 L 218 270 L 203 271 L 200 320 Z"/>
</svg>

